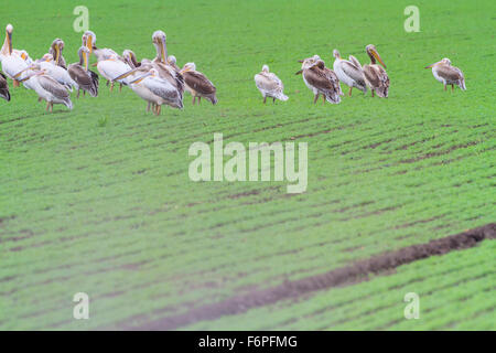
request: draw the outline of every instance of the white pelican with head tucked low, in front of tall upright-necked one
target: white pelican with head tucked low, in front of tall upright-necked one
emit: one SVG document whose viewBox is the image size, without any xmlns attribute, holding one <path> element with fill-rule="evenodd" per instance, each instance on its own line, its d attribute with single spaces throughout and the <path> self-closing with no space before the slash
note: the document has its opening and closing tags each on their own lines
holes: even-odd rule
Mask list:
<svg viewBox="0 0 496 353">
<path fill-rule="evenodd" d="M 130 82 L 133 89 L 141 98 L 153 104 L 153 113 L 160 115 L 163 104 L 182 109 L 183 97 L 169 81 L 159 76 L 157 68 L 152 67 L 144 75 Z M 139 85 L 139 86 L 138 86 Z"/>
</svg>

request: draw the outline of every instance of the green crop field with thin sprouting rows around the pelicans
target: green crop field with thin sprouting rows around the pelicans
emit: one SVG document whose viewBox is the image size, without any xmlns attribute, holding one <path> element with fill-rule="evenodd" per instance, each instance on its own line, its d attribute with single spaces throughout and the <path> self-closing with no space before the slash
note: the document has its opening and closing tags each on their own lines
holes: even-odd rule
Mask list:
<svg viewBox="0 0 496 353">
<path fill-rule="evenodd" d="M 485 0 L 418 1 L 419 33 L 403 29 L 409 1 L 17 1 L 0 26 L 41 57 L 55 38 L 77 61 L 73 9 L 89 9 L 97 45 L 153 57 L 168 34 L 180 65 L 195 62 L 218 105 L 145 114 L 130 89 L 73 98 L 44 111 L 12 88 L 0 100 L 0 329 L 134 329 L 249 296 L 356 260 L 495 221 L 494 39 Z M 313 105 L 298 60 L 332 50 L 387 64 L 388 99 L 354 92 Z M 428 64 L 449 57 L 466 92 L 443 92 Z M 93 57 L 93 61 L 95 58 Z M 265 106 L 254 75 L 268 64 L 290 99 Z M 343 87 L 345 88 L 345 87 Z M 345 90 L 345 89 L 344 89 Z M 309 186 L 188 179 L 190 146 L 309 145 Z M 367 281 L 305 293 L 179 329 L 495 330 L 494 240 L 405 265 Z M 420 320 L 403 318 L 418 292 Z M 73 296 L 90 319 L 73 319 Z"/>
</svg>

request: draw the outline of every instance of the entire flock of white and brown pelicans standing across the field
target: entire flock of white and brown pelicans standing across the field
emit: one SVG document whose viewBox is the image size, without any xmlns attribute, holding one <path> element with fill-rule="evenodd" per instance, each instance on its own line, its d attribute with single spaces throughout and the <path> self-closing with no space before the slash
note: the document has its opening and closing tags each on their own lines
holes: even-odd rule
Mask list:
<svg viewBox="0 0 496 353">
<path fill-rule="evenodd" d="M 11 90 L 9 89 L 8 78 L 12 79 L 12 86 L 22 85 L 32 89 L 39 96 L 39 100 L 46 101 L 46 110 L 53 111 L 54 104 L 61 104 L 68 109 L 73 108 L 71 93 L 77 92 L 76 98 L 79 98 L 80 90 L 83 95 L 86 92 L 91 97 L 98 96 L 99 77 L 107 81 L 110 92 L 114 90 L 116 83 L 119 84 L 119 92 L 122 86 L 128 86 L 134 94 L 148 103 L 147 111 L 160 115 L 162 105 L 172 108 L 183 109 L 183 97 L 186 90 L 192 96 L 192 104 L 198 104 L 202 98 L 216 105 L 217 88 L 207 78 L 207 76 L 196 71 L 196 65 L 188 62 L 182 68 L 177 65 L 174 55 L 169 55 L 166 47 L 166 35 L 163 31 L 155 31 L 152 34 L 152 44 L 155 49 L 155 57 L 152 60 L 141 58 L 127 49 L 122 55 L 108 47 L 96 46 L 96 34 L 93 31 L 86 31 L 82 35 L 82 45 L 77 54 L 79 61 L 67 66 L 63 56 L 65 43 L 62 39 L 53 40 L 48 52 L 39 60 L 33 60 L 25 50 L 13 47 L 12 42 L 13 26 L 6 26 L 6 39 L 0 49 L 0 97 L 7 101 L 11 100 Z M 386 72 L 386 64 L 379 55 L 374 44 L 368 44 L 365 52 L 370 58 L 369 64 L 362 65 L 359 61 L 349 55 L 348 60 L 341 56 L 335 49 L 333 51 L 333 68 L 325 66 L 325 62 L 319 56 L 313 55 L 299 61 L 301 74 L 306 87 L 313 93 L 313 103 L 316 104 L 322 95 L 325 104 L 339 104 L 344 96 L 341 84 L 345 84 L 352 97 L 353 88 L 362 90 L 364 94 L 370 89 L 371 97 L 376 95 L 387 98 L 389 95 L 389 76 Z M 89 69 L 91 54 L 96 57 L 98 74 Z M 445 57 L 433 63 L 425 68 L 432 68 L 434 78 L 441 82 L 446 90 L 448 85 L 454 90 L 459 86 L 466 90 L 465 77 L 462 71 L 451 64 Z M 285 101 L 289 97 L 283 93 L 282 81 L 269 71 L 268 65 L 263 65 L 260 73 L 255 75 L 255 84 L 263 97 L 263 104 L 267 98 Z"/>
</svg>

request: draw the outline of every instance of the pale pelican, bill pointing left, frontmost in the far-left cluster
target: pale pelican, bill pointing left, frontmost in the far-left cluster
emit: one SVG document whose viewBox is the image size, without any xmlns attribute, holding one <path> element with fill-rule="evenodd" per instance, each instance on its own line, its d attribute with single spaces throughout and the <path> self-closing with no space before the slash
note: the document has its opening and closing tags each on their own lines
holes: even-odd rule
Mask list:
<svg viewBox="0 0 496 353">
<path fill-rule="evenodd" d="M 71 110 L 73 103 L 71 96 L 63 85 L 57 83 L 52 77 L 45 75 L 45 72 L 31 72 L 20 82 L 29 83 L 29 87 L 34 89 L 41 99 L 46 100 L 46 111 L 53 111 L 54 104 L 63 104 Z"/>
</svg>

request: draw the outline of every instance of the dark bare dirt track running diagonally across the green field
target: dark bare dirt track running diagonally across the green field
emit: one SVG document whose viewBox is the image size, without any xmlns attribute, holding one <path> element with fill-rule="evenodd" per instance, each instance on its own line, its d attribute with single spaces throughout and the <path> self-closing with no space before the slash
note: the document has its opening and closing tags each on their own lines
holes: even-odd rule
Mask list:
<svg viewBox="0 0 496 353">
<path fill-rule="evenodd" d="M 254 291 L 225 301 L 193 308 L 190 311 L 151 321 L 139 327 L 121 328 L 133 330 L 175 330 L 198 321 L 215 320 L 224 315 L 239 314 L 249 309 L 276 303 L 280 300 L 298 298 L 313 291 L 338 286 L 347 286 L 366 280 L 370 274 L 389 274 L 396 267 L 434 255 L 473 247 L 484 239 L 496 238 L 496 223 L 490 223 L 456 235 L 412 245 L 396 252 L 373 256 L 365 260 L 328 272 L 294 281 L 285 281 L 277 287 Z M 132 321 L 132 320 L 131 320 Z"/>
</svg>

